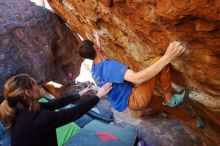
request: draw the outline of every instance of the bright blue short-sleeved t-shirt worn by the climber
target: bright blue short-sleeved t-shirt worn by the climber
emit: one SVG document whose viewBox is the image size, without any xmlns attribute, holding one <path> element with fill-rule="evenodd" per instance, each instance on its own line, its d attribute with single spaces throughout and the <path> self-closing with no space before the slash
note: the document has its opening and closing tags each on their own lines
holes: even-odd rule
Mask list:
<svg viewBox="0 0 220 146">
<path fill-rule="evenodd" d="M 99 87 L 107 82 L 112 82 L 112 90 L 108 93 L 108 99 L 113 108 L 122 112 L 128 106 L 128 98 L 133 84 L 124 80 L 124 74 L 128 67 L 115 60 L 106 59 L 92 66 L 92 77 Z"/>
</svg>

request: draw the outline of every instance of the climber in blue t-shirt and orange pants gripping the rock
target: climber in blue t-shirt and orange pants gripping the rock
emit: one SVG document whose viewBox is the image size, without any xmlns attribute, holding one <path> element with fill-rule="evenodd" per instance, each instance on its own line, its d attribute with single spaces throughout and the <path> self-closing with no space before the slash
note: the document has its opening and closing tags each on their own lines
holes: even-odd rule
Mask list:
<svg viewBox="0 0 220 146">
<path fill-rule="evenodd" d="M 93 60 L 92 77 L 99 87 L 106 82 L 112 82 L 108 100 L 114 109 L 123 112 L 127 107 L 134 111 L 147 108 L 158 80 L 164 96 L 164 106 L 175 107 L 183 102 L 186 90 L 171 95 L 169 68 L 169 63 L 185 51 L 181 42 L 171 42 L 162 57 L 155 57 L 149 67 L 135 72 L 123 63 L 107 59 L 100 47 L 99 35 L 95 37 L 97 44 L 84 40 L 78 53 L 82 58 Z M 196 120 L 192 123 L 197 124 L 197 127 L 199 125 Z"/>
</svg>

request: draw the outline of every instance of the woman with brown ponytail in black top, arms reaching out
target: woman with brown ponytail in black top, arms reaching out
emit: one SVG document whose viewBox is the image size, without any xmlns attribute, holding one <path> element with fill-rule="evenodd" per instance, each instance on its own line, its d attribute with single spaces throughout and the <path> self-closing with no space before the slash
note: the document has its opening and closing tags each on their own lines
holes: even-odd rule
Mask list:
<svg viewBox="0 0 220 146">
<path fill-rule="evenodd" d="M 39 89 L 40 86 L 27 74 L 13 76 L 4 85 L 0 120 L 11 130 L 12 146 L 57 146 L 56 128 L 88 112 L 111 90 L 111 83 L 77 106 L 59 111 L 54 110 L 79 100 L 80 94 L 39 103 Z"/>
</svg>

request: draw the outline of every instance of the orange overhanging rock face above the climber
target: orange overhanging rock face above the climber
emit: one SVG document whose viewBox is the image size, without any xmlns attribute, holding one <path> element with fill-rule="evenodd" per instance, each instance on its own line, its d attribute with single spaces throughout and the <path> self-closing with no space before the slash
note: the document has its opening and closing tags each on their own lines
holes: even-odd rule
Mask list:
<svg viewBox="0 0 220 146">
<path fill-rule="evenodd" d="M 219 0 L 49 0 L 53 10 L 84 38 L 105 32 L 101 44 L 108 57 L 134 70 L 162 55 L 172 40 L 186 43 L 172 62 L 173 80 L 198 92 L 192 96 L 220 109 Z M 208 97 L 208 100 L 207 98 Z"/>
</svg>

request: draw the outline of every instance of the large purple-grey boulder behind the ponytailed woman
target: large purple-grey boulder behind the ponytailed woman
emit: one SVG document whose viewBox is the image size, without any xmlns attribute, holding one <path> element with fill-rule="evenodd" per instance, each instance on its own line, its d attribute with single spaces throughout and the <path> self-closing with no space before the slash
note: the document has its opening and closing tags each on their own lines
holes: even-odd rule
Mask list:
<svg viewBox="0 0 220 146">
<path fill-rule="evenodd" d="M 49 10 L 29 0 L 0 1 L 0 95 L 4 81 L 29 73 L 38 81 L 64 82 L 78 74 L 79 38 Z"/>
</svg>

